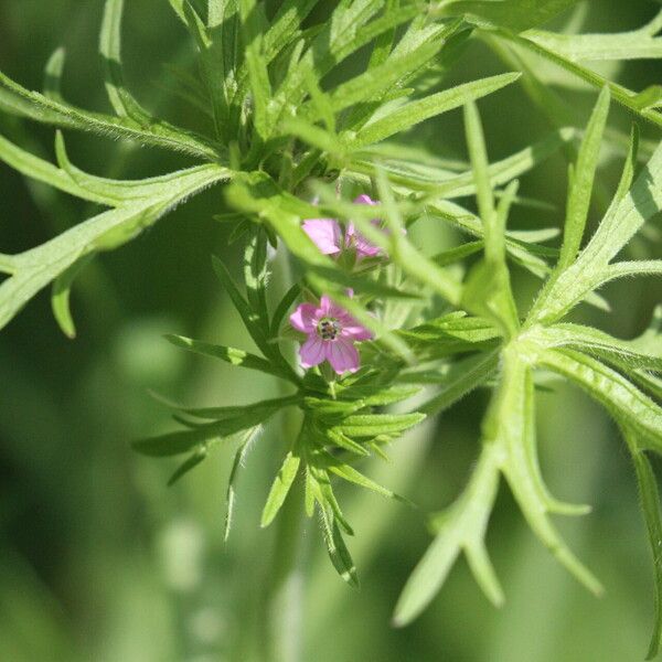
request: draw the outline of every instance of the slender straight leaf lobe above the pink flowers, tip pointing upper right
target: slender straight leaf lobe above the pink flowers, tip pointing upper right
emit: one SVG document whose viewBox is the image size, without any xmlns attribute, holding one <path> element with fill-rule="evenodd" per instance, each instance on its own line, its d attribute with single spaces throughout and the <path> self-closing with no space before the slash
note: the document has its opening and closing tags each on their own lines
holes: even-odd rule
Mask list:
<svg viewBox="0 0 662 662">
<path fill-rule="evenodd" d="M 394 134 L 405 131 L 430 117 L 459 108 L 470 99 L 479 99 L 492 94 L 510 85 L 519 77 L 519 73 L 501 74 L 457 85 L 417 102 L 409 102 L 361 129 L 353 139 L 348 139 L 348 147 L 357 150 L 373 142 L 385 140 Z"/>
</svg>

